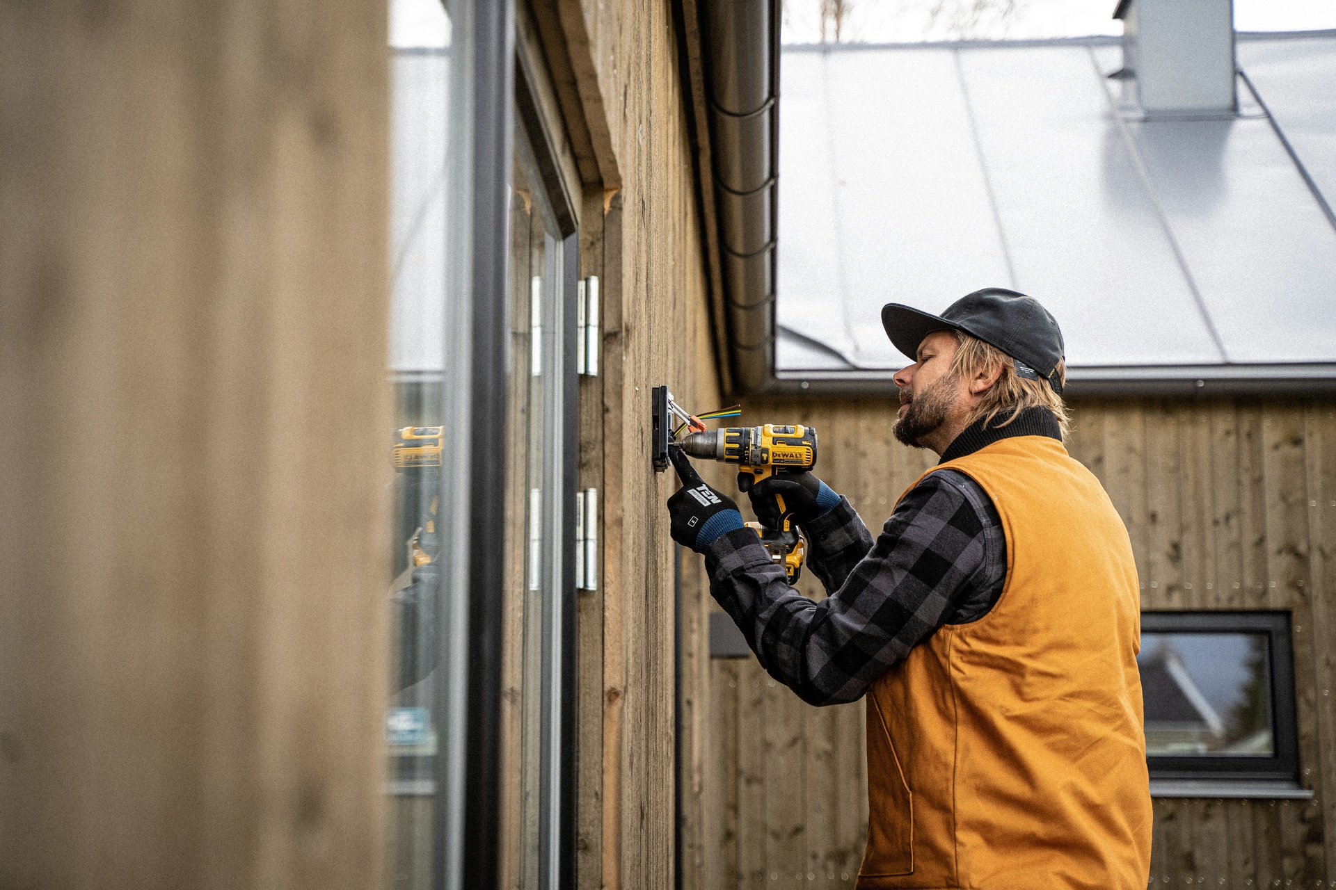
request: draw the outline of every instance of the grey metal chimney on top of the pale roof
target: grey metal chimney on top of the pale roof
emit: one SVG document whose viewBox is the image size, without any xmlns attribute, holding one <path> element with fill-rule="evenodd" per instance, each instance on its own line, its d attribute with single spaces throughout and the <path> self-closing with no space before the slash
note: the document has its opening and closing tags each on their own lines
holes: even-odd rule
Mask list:
<svg viewBox="0 0 1336 890">
<path fill-rule="evenodd" d="M 1148 117 L 1234 113 L 1232 0 L 1121 0 L 1113 17 Z"/>
</svg>

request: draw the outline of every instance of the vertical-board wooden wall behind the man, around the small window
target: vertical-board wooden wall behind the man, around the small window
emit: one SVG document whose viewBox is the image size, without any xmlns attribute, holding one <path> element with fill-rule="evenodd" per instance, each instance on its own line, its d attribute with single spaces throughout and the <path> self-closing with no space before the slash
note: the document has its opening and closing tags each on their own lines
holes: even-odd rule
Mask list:
<svg viewBox="0 0 1336 890">
<path fill-rule="evenodd" d="M 886 400 L 755 400 L 743 422 L 814 424 L 819 475 L 875 531 L 937 459 L 895 443 L 894 418 Z M 1315 799 L 1156 801 L 1153 882 L 1336 886 L 1336 402 L 1078 400 L 1067 447 L 1128 524 L 1144 608 L 1293 616 L 1300 779 Z M 717 606 L 689 559 L 687 608 L 704 620 Z M 802 588 L 822 595 L 812 579 Z M 863 705 L 808 707 L 755 659 L 703 674 L 701 793 L 684 810 L 700 857 L 685 886 L 852 886 Z"/>
</svg>

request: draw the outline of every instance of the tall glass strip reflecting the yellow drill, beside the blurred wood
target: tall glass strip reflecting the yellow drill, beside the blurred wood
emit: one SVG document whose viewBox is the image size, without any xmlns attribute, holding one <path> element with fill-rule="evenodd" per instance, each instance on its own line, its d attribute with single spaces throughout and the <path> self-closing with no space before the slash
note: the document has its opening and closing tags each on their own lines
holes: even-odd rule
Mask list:
<svg viewBox="0 0 1336 890">
<path fill-rule="evenodd" d="M 437 757 L 445 721 L 437 682 L 445 590 L 442 447 L 448 379 L 461 356 L 445 336 L 450 20 L 440 0 L 390 4 L 390 343 L 394 428 L 390 540 L 391 886 L 430 890 L 437 855 Z"/>
</svg>

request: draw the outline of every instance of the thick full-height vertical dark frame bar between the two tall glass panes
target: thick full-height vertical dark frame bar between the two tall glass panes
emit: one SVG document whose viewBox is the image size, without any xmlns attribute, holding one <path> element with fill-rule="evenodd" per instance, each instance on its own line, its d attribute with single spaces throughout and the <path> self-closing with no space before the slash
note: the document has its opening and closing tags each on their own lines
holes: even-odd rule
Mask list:
<svg viewBox="0 0 1336 890">
<path fill-rule="evenodd" d="M 496 544 L 505 536 L 505 439 L 509 338 L 509 183 L 513 125 L 514 7 L 510 0 L 448 0 L 453 43 L 450 71 L 450 156 L 458 159 L 448 220 L 457 232 L 462 287 L 472 318 L 468 450 L 468 656 L 464 659 L 464 743 L 458 762 L 437 758 L 437 787 L 461 777 L 458 826 L 449 801 L 437 803 L 433 886 L 496 887 L 501 865 L 501 677 L 505 564 Z M 444 496 L 444 495 L 442 495 Z M 440 639 L 438 663 L 452 663 L 450 640 Z M 441 683 L 438 711 L 449 714 Z M 453 837 L 457 831 L 457 837 Z"/>
</svg>

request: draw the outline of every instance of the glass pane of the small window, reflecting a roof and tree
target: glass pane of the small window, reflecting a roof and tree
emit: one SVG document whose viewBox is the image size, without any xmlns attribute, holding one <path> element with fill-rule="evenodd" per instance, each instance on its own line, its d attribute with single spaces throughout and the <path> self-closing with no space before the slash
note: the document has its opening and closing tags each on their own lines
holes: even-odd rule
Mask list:
<svg viewBox="0 0 1336 890">
<path fill-rule="evenodd" d="M 1273 757 L 1265 634 L 1142 634 L 1152 757 Z"/>
</svg>

